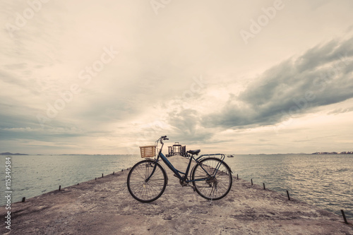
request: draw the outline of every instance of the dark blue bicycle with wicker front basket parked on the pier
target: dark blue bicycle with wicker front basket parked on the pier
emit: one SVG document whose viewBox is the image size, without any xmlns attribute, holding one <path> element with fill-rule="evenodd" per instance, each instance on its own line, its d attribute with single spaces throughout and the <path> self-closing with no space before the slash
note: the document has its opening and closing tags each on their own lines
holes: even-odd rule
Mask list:
<svg viewBox="0 0 353 235">
<path fill-rule="evenodd" d="M 155 145 L 140 147 L 141 157 L 155 157 L 155 149 L 160 142 L 162 145 L 155 159 L 145 159 L 136 163 L 128 173 L 127 186 L 128 191 L 136 200 L 142 203 L 150 203 L 164 193 L 167 186 L 167 173 L 159 163 L 160 159 L 164 164 L 174 172 L 174 176 L 179 178 L 181 186 L 191 186 L 201 197 L 210 200 L 219 200 L 224 198 L 232 188 L 232 170 L 223 161 L 225 155 L 210 154 L 201 155 L 195 158 L 201 150 L 189 150 L 191 154 L 189 164 L 185 172 L 176 169 L 167 157 L 162 153 L 163 141 L 169 140 L 167 135 L 160 137 L 155 141 Z M 220 158 L 214 156 L 220 156 Z M 190 171 L 190 179 L 188 178 L 191 161 L 196 164 Z"/>
</svg>

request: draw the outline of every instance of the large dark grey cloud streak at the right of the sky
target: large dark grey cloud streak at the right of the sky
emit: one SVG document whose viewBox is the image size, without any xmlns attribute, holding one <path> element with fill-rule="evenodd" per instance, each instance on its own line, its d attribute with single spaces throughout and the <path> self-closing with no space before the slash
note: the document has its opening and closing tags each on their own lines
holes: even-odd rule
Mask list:
<svg viewBox="0 0 353 235">
<path fill-rule="evenodd" d="M 203 116 L 203 125 L 248 128 L 280 123 L 316 107 L 353 97 L 353 37 L 313 47 L 265 71 L 219 112 Z"/>
</svg>

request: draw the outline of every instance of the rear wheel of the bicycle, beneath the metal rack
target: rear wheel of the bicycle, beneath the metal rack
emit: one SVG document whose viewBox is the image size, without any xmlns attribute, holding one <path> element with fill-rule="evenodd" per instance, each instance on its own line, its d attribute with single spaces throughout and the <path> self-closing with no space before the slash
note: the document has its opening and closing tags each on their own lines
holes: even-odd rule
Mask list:
<svg viewBox="0 0 353 235">
<path fill-rule="evenodd" d="M 202 159 L 193 169 L 192 180 L 196 192 L 208 200 L 224 198 L 232 188 L 232 171 L 221 159 Z"/>
</svg>

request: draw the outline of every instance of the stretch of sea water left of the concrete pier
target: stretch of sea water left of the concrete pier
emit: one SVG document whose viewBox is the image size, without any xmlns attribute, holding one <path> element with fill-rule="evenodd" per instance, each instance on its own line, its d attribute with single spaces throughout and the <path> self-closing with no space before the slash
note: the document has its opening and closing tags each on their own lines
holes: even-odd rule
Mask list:
<svg viewBox="0 0 353 235">
<path fill-rule="evenodd" d="M 0 205 L 6 204 L 5 157 L 1 157 Z M 13 155 L 11 157 L 12 202 L 32 198 L 73 184 L 89 181 L 132 167 L 139 155 Z"/>
</svg>

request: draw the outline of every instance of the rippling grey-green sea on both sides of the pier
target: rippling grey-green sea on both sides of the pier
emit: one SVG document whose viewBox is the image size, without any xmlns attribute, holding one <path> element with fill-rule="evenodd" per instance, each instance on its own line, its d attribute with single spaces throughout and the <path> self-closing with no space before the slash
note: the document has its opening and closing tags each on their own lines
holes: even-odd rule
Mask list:
<svg viewBox="0 0 353 235">
<path fill-rule="evenodd" d="M 11 157 L 11 173 L 6 173 Z M 32 198 L 67 186 L 132 167 L 140 155 L 12 155 L 0 156 L 1 198 L 11 202 Z M 234 155 L 226 157 L 233 175 L 287 197 L 353 219 L 353 155 Z M 181 169 L 184 170 L 184 169 Z M 11 175 L 10 188 L 6 176 Z M 9 186 L 9 184 L 7 185 Z M 235 189 L 237 190 L 237 189 Z"/>
</svg>

